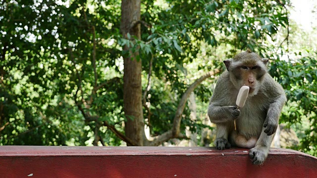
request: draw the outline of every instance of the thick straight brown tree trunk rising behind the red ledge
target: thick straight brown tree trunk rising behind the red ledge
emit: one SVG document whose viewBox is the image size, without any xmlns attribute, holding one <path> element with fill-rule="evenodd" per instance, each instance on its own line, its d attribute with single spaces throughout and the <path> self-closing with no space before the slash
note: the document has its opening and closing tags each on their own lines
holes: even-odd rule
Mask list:
<svg viewBox="0 0 317 178">
<path fill-rule="evenodd" d="M 140 27 L 140 0 L 121 1 L 121 33 L 127 38 L 127 33 L 141 39 Z M 125 50 L 129 50 L 127 46 Z M 131 52 L 124 57 L 123 75 L 123 102 L 124 113 L 127 118 L 125 122 L 125 135 L 134 140 L 139 146 L 144 145 L 144 120 L 142 109 L 142 85 L 141 85 L 141 59 L 136 60 L 138 52 Z M 129 144 L 128 144 L 129 145 Z"/>
</svg>

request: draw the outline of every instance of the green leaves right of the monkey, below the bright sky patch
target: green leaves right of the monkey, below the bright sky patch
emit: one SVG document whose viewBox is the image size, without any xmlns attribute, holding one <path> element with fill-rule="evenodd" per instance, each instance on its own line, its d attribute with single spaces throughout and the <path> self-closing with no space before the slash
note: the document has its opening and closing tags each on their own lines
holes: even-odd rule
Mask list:
<svg viewBox="0 0 317 178">
<path fill-rule="evenodd" d="M 315 147 L 313 139 L 316 134 L 312 133 L 311 129 L 317 126 L 316 122 L 313 122 L 316 120 L 317 106 L 316 57 L 313 53 L 310 57 L 291 59 L 290 62 L 276 60 L 270 70 L 271 75 L 282 84 L 288 99 L 280 121 L 296 126 L 294 129 L 301 139 L 296 149 L 302 149 L 312 155 L 317 155 L 312 149 Z M 302 126 L 303 123 L 307 126 Z M 302 134 L 304 131 L 312 136 Z"/>
</svg>

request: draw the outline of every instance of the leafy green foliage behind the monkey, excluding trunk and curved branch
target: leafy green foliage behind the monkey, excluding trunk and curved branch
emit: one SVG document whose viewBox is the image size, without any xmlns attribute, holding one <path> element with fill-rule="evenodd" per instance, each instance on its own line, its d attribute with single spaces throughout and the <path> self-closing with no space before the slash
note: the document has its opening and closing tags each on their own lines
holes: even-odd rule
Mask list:
<svg viewBox="0 0 317 178">
<path fill-rule="evenodd" d="M 124 133 L 122 57 L 134 51 L 140 52 L 136 60 L 142 59 L 145 121 L 150 134 L 159 135 L 171 128 L 188 86 L 206 71 L 223 70 L 224 58 L 247 48 L 271 59 L 280 56 L 272 53 L 277 47 L 266 44 L 277 41 L 276 33 L 288 26 L 288 4 L 144 0 L 138 40 L 120 35 L 117 0 L 0 1 L 0 144 L 123 144 L 111 127 Z M 300 70 L 305 64 L 316 71 L 314 62 L 309 57 L 272 63 L 270 72 L 286 89 L 291 108 L 281 122 L 292 122 L 298 114 L 316 118 L 316 74 Z M 183 134 L 186 127 L 198 134 L 210 127 L 202 121 L 216 79 L 195 90 L 199 114 L 191 121 L 186 106 Z M 303 145 L 314 139 L 316 133 Z"/>
</svg>

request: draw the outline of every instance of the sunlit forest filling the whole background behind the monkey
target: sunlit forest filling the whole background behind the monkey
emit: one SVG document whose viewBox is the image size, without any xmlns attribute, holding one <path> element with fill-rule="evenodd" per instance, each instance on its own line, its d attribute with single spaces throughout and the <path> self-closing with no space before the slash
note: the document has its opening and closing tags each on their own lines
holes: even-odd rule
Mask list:
<svg viewBox="0 0 317 178">
<path fill-rule="evenodd" d="M 295 142 L 277 146 L 317 156 L 317 4 L 300 3 L 0 0 L 0 145 L 213 146 L 222 61 L 249 48 L 287 95 Z"/>
</svg>

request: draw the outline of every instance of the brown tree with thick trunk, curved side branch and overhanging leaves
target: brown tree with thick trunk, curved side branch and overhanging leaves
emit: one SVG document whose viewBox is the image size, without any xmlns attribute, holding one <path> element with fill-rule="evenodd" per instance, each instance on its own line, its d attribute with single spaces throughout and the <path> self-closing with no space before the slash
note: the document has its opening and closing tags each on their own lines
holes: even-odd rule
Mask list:
<svg viewBox="0 0 317 178">
<path fill-rule="evenodd" d="M 148 3 L 147 3 L 147 5 L 150 5 Z M 219 18 L 219 21 L 216 22 L 216 23 L 219 23 L 219 22 L 228 22 L 226 20 L 230 19 L 230 15 L 228 13 L 229 8 L 227 8 L 228 6 L 231 7 L 230 10 L 233 11 L 232 12 L 233 14 L 235 13 L 235 11 L 234 11 L 235 8 L 241 9 L 241 7 L 243 6 L 243 4 L 239 4 L 239 1 L 237 1 L 237 2 L 231 1 L 228 4 L 225 1 L 221 1 L 220 5 L 217 2 L 209 2 L 206 5 L 206 3 L 204 1 L 199 1 L 199 2 L 193 1 L 193 3 L 188 2 L 189 4 L 186 4 L 186 6 L 183 6 L 183 4 L 181 2 L 179 3 L 178 1 L 169 2 L 169 3 L 175 5 L 172 8 L 173 10 L 175 10 L 174 14 L 173 14 L 174 16 L 180 17 L 179 19 L 182 19 L 181 17 L 185 16 L 184 21 L 182 21 L 182 20 L 179 21 L 180 22 L 179 25 L 181 27 L 183 26 L 183 28 L 185 28 L 184 29 L 185 31 L 184 30 L 182 31 L 182 34 L 184 35 L 185 38 L 189 37 L 189 34 L 186 33 L 186 27 L 188 27 L 186 25 L 186 23 L 191 23 L 192 20 L 186 21 L 187 18 L 190 19 L 191 15 L 184 13 L 184 12 L 186 10 L 190 9 L 191 7 L 193 9 L 199 9 L 199 8 L 205 6 L 204 10 L 207 11 L 208 13 L 214 13 L 214 12 L 219 13 L 221 11 L 219 9 L 221 9 L 221 7 L 224 7 L 223 12 L 220 13 L 219 16 L 227 16 L 228 18 L 227 19 Z M 255 3 L 255 4 L 253 4 L 253 3 Z M 250 5 L 251 4 L 258 5 L 258 2 L 257 1 L 251 2 Z M 261 2 L 259 4 L 261 4 Z M 146 22 L 140 20 L 140 10 L 141 10 L 140 6 L 141 6 L 140 1 L 129 1 L 129 2 L 122 1 L 122 3 L 121 3 L 121 10 L 122 10 L 122 12 L 121 12 L 121 32 L 122 32 L 123 37 L 127 38 L 128 40 L 131 38 L 130 37 L 131 34 L 135 36 L 136 40 L 141 39 L 140 38 L 141 37 L 140 24 L 142 22 L 143 23 L 146 23 Z M 220 8 L 218 8 L 219 6 L 220 6 Z M 219 10 L 219 11 L 217 11 L 217 10 Z M 264 11 L 266 11 L 266 10 L 268 10 L 268 8 L 264 9 Z M 211 12 L 209 12 L 209 11 L 211 11 Z M 259 14 L 262 13 L 261 11 L 259 11 L 259 12 L 256 11 L 255 13 L 259 13 Z M 211 30 L 214 29 L 214 24 L 211 23 L 211 27 L 209 27 L 209 28 L 208 28 L 208 26 L 206 27 L 206 25 L 205 25 L 206 21 L 209 20 L 211 22 L 210 14 L 208 14 L 208 13 L 203 14 L 203 12 L 200 10 L 198 10 L 196 13 L 197 13 L 197 15 L 200 15 L 203 17 L 201 17 L 201 19 L 194 20 L 194 21 L 196 21 L 195 24 L 198 24 L 198 25 L 192 27 L 193 28 L 192 30 L 194 30 L 195 28 L 201 28 L 202 33 L 190 34 L 190 35 L 196 37 L 197 39 L 202 39 L 202 37 L 203 37 L 203 39 L 206 40 L 211 45 L 216 45 L 215 37 L 214 36 L 211 37 L 211 35 L 208 34 L 208 32 L 211 32 Z M 240 18 L 243 17 L 243 15 L 244 15 L 240 12 L 237 12 L 237 13 L 238 13 Z M 188 17 L 186 15 L 183 15 L 183 14 L 188 15 Z M 276 25 L 277 24 L 287 23 L 287 21 L 285 21 L 285 18 L 283 20 L 284 14 L 280 13 L 280 15 L 282 17 L 282 21 L 275 22 L 275 23 L 272 22 L 271 24 L 264 26 L 264 28 L 267 29 L 269 34 L 276 32 L 276 30 L 277 30 Z M 174 26 L 173 22 L 175 19 L 177 20 L 177 18 L 170 17 L 169 20 L 172 23 L 168 23 L 168 24 L 171 24 L 171 26 Z M 266 19 L 264 19 L 264 18 L 260 18 L 260 19 L 262 19 L 262 23 L 265 23 L 264 20 L 271 21 L 268 17 L 266 17 Z M 233 20 L 233 19 L 231 19 L 231 20 Z M 235 20 L 239 21 L 240 19 L 235 19 Z M 248 21 L 250 21 L 250 20 L 251 20 L 251 23 L 255 21 L 255 20 L 252 20 L 249 18 Z M 243 22 L 243 20 L 242 20 L 242 22 Z M 165 23 L 166 23 L 166 21 L 165 21 Z M 235 39 L 233 40 L 233 42 L 235 44 L 242 45 L 242 48 L 244 48 L 244 47 L 254 48 L 252 43 L 256 43 L 256 42 L 252 41 L 251 39 L 248 39 L 248 33 L 249 33 L 248 31 L 243 30 L 243 28 L 241 28 L 240 26 L 236 26 L 236 27 L 231 26 L 229 22 L 228 22 L 228 25 L 229 25 L 229 28 L 231 29 L 230 31 L 235 31 L 237 33 L 238 39 L 240 38 L 240 42 L 235 41 Z M 249 26 L 247 25 L 247 27 L 249 27 Z M 250 28 L 252 28 L 252 26 L 250 26 Z M 177 28 L 171 28 L 171 29 L 173 31 L 176 31 L 176 32 L 180 31 Z M 247 30 L 250 30 L 250 29 L 247 29 Z M 223 30 L 223 31 L 226 32 L 225 30 Z M 243 31 L 244 31 L 244 33 L 243 33 Z M 265 33 L 265 31 L 262 33 Z M 244 35 L 242 35 L 242 34 L 244 34 Z M 258 30 L 255 31 L 254 34 L 255 34 L 256 38 L 260 38 L 260 36 L 261 36 L 261 32 Z M 151 39 L 153 37 L 156 37 L 155 34 L 150 35 L 148 37 L 148 39 L 149 38 Z M 244 39 L 244 38 L 246 38 L 246 39 Z M 167 44 L 174 45 L 176 50 L 178 50 L 179 52 L 183 52 L 181 46 L 178 45 L 178 42 L 177 42 L 178 40 L 181 40 L 181 38 L 174 36 L 172 39 L 174 39 L 174 40 L 173 41 L 169 41 L 168 39 L 163 39 L 163 40 Z M 157 43 L 155 43 L 155 40 L 157 40 L 157 39 L 154 38 L 152 40 L 154 40 L 153 45 L 154 46 L 157 45 Z M 252 43 L 251 44 L 247 43 L 247 41 L 252 42 Z M 187 40 L 187 42 L 190 43 L 190 40 Z M 128 57 L 124 58 L 125 70 L 124 70 L 124 91 L 123 92 L 124 92 L 124 108 L 125 108 L 124 111 L 125 111 L 125 114 L 127 117 L 127 122 L 125 124 L 125 133 L 126 133 L 126 136 L 128 138 L 134 140 L 135 145 L 159 145 L 161 142 L 167 141 L 170 138 L 182 137 L 180 134 L 181 115 L 182 115 L 182 112 L 184 110 L 184 107 L 185 107 L 185 104 L 187 102 L 187 98 L 189 97 L 190 92 L 193 91 L 198 86 L 198 84 L 200 84 L 202 81 L 204 81 L 205 79 L 207 79 L 211 75 L 214 75 L 215 73 L 207 73 L 205 76 L 203 76 L 202 78 L 197 80 L 190 88 L 188 88 L 186 90 L 186 92 L 183 94 L 182 99 L 180 100 L 178 108 L 176 110 L 175 117 L 173 120 L 172 130 L 169 130 L 163 134 L 158 135 L 156 138 L 154 138 L 153 140 L 151 140 L 149 142 L 149 140 L 147 140 L 147 138 L 145 136 L 144 129 L 143 129 L 144 128 L 144 118 L 143 118 L 143 112 L 142 112 L 143 110 L 142 110 L 142 99 L 141 99 L 141 96 L 142 96 L 142 94 L 141 94 L 141 90 L 142 90 L 141 89 L 141 72 L 142 71 L 141 71 L 141 59 L 140 59 L 141 57 L 138 57 L 138 56 L 140 56 L 138 49 L 142 50 L 145 47 L 142 47 L 141 44 L 142 44 L 142 42 L 140 42 L 140 46 L 137 46 L 137 47 L 134 46 L 134 49 L 133 49 L 133 47 L 131 47 L 132 51 L 128 52 L 130 55 Z M 127 46 L 125 46 L 125 47 L 127 47 Z M 192 48 L 191 44 L 187 45 L 187 46 L 183 45 L 183 48 L 186 49 L 186 47 Z M 157 49 L 161 49 L 161 48 L 158 47 Z M 167 49 L 169 49 L 169 48 L 167 47 Z M 129 49 L 127 49 L 127 50 L 129 50 Z M 194 53 L 194 56 L 195 55 L 196 55 L 196 53 Z M 173 57 L 176 57 L 176 58 L 178 56 L 179 56 L 179 54 L 177 52 L 173 55 Z M 182 55 L 180 55 L 180 56 L 182 56 Z M 131 61 L 131 58 L 134 60 Z M 182 62 L 183 61 L 180 61 L 180 63 L 182 63 Z M 150 69 L 151 68 L 152 68 L 152 66 L 150 66 Z M 133 73 L 131 71 L 133 71 Z M 145 102 L 145 100 L 144 100 L 144 102 Z M 143 103 L 143 104 L 145 105 L 145 103 Z M 147 107 L 147 106 L 145 105 L 145 107 Z"/>
</svg>

